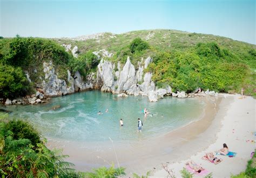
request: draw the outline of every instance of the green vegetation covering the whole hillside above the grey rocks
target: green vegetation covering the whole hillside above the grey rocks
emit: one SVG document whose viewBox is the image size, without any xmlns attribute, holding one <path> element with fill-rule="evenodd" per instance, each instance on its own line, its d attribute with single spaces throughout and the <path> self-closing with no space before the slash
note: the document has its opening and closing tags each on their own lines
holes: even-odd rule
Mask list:
<svg viewBox="0 0 256 178">
<path fill-rule="evenodd" d="M 62 44 L 78 46 L 78 58 L 65 52 Z M 36 86 L 43 78 L 43 61 L 53 61 L 58 77 L 66 80 L 69 69 L 86 76 L 99 60 L 93 51 L 105 49 L 114 55 L 107 60 L 124 65 L 127 56 L 138 61 L 151 56 L 146 71 L 153 73 L 158 87 L 170 85 L 174 91 L 192 92 L 197 87 L 218 92 L 254 95 L 256 86 L 256 46 L 229 38 L 175 30 L 142 30 L 113 35 L 61 39 L 0 39 L 0 97 L 16 97 Z M 34 72 L 34 70 L 37 72 Z M 24 70 L 33 81 L 24 80 Z M 23 73 L 22 73 L 23 72 Z M 8 79 L 8 80 L 7 80 Z M 14 86 L 10 86 L 14 83 Z"/>
</svg>

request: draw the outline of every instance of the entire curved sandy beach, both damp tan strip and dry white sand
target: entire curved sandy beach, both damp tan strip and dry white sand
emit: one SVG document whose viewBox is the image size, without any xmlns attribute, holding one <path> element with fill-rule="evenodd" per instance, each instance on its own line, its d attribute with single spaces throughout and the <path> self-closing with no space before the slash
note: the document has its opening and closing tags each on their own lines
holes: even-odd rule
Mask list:
<svg viewBox="0 0 256 178">
<path fill-rule="evenodd" d="M 255 100 L 252 97 L 239 99 L 240 95 L 219 94 L 219 97 L 199 97 L 206 103 L 200 120 L 178 128 L 175 131 L 143 140 L 138 136 L 134 142 L 114 142 L 109 144 L 82 146 L 76 142 L 49 140 L 49 148 L 62 148 L 63 154 L 70 157 L 67 161 L 75 163 L 80 171 L 91 171 L 92 168 L 109 167 L 111 163 L 126 168 L 126 176 L 132 173 L 145 175 L 151 171 L 152 177 L 166 177 L 161 167 L 164 163 L 173 170 L 176 177 L 188 160 L 201 164 L 213 177 L 230 177 L 245 170 L 247 160 L 255 148 L 252 132 L 255 131 Z M 223 162 L 213 165 L 201 160 L 206 152 L 214 152 L 226 143 L 230 151 L 237 152 L 235 158 L 221 156 Z M 92 143 L 90 143 L 92 144 Z M 95 149 L 97 148 L 97 149 Z M 220 156 L 219 156 L 220 157 Z M 117 162 L 118 160 L 118 162 Z"/>
</svg>

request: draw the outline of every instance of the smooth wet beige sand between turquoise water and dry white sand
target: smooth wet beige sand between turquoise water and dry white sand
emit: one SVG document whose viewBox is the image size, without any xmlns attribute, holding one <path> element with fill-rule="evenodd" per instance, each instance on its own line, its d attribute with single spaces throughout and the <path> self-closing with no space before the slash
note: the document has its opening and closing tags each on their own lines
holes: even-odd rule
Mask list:
<svg viewBox="0 0 256 178">
<path fill-rule="evenodd" d="M 161 163 L 187 159 L 191 154 L 204 149 L 205 145 L 208 146 L 214 142 L 214 134 L 205 139 L 202 133 L 211 126 L 214 120 L 217 120 L 214 118 L 220 108 L 225 114 L 232 99 L 210 96 L 197 99 L 205 102 L 204 112 L 198 121 L 157 138 L 144 139 L 138 134 L 136 141 L 113 141 L 113 145 L 111 141 L 104 144 L 90 142 L 82 145 L 78 142 L 49 140 L 48 147 L 62 148 L 63 154 L 70 156 L 67 161 L 74 163 L 75 168 L 83 172 L 102 166 L 109 167 L 112 163 L 117 167 L 119 163 L 120 166 L 126 168 L 127 176 L 132 173 L 146 174 L 149 170 L 154 173 L 161 169 Z M 117 158 L 114 150 L 116 150 Z M 187 150 L 190 151 L 187 152 Z"/>
</svg>

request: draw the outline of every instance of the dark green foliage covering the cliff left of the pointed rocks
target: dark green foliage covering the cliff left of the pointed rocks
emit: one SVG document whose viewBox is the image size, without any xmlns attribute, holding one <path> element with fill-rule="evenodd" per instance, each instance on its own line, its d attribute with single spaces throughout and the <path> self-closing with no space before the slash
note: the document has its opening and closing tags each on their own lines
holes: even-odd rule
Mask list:
<svg viewBox="0 0 256 178">
<path fill-rule="evenodd" d="M 46 61 L 53 61 L 60 78 L 67 78 L 70 58 L 72 56 L 52 40 L 19 36 L 0 39 L 0 97 L 15 98 L 31 92 L 33 84 L 44 78 L 43 62 Z M 24 71 L 34 81 L 31 86 Z"/>
</svg>

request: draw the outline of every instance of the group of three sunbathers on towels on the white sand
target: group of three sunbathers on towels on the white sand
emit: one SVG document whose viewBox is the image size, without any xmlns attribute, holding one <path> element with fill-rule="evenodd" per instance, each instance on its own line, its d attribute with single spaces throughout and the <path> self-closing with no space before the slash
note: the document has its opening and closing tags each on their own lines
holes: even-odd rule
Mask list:
<svg viewBox="0 0 256 178">
<path fill-rule="evenodd" d="M 223 148 L 218 150 L 217 153 L 220 153 L 220 155 L 227 155 L 228 154 L 228 147 L 227 147 L 226 143 L 223 144 Z M 205 156 L 203 156 L 203 158 L 204 158 L 204 160 L 207 160 L 211 163 L 214 163 L 214 165 L 217 165 L 218 163 L 223 161 L 222 159 L 217 158 L 216 156 L 214 156 L 214 154 L 212 152 L 206 153 Z M 194 170 L 194 172 L 197 172 L 197 173 L 200 173 L 202 170 L 205 170 L 203 167 L 198 165 L 193 160 L 186 162 L 186 165 L 188 165 L 191 169 Z"/>
</svg>

